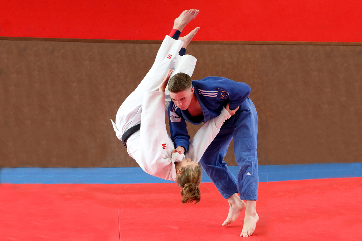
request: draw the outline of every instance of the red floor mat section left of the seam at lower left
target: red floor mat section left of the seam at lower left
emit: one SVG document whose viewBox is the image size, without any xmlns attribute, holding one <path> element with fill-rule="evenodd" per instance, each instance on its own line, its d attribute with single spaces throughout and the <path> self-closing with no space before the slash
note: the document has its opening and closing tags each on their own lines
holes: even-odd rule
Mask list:
<svg viewBox="0 0 362 241">
<path fill-rule="evenodd" d="M 116 196 L 111 185 L 1 184 L 0 240 L 119 240 Z"/>
</svg>

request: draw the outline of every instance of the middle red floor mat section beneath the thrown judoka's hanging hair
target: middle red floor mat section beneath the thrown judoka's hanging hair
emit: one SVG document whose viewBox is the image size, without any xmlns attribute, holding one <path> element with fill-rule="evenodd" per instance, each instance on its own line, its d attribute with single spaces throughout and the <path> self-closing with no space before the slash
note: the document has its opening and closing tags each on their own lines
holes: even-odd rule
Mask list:
<svg viewBox="0 0 362 241">
<path fill-rule="evenodd" d="M 124 185 L 121 202 L 125 208 L 119 209 L 121 240 L 240 240 L 243 223 L 236 220 L 223 227 L 228 207 L 205 185 L 200 189 L 201 201 L 185 205 L 180 203 L 181 189 L 176 184 L 140 184 L 136 190 L 134 184 Z"/>
</svg>

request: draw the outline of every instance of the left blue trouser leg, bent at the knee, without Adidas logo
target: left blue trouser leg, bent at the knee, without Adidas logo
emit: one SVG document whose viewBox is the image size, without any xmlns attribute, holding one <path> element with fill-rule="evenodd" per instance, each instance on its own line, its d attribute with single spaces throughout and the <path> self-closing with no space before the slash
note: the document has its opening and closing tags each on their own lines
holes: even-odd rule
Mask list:
<svg viewBox="0 0 362 241">
<path fill-rule="evenodd" d="M 227 169 L 227 164 L 224 162 L 224 156 L 226 155 L 231 140 L 232 131 L 221 129 L 200 160 L 201 166 L 207 176 L 210 177 L 211 181 L 225 199 L 237 193 L 236 178 Z"/>
</svg>

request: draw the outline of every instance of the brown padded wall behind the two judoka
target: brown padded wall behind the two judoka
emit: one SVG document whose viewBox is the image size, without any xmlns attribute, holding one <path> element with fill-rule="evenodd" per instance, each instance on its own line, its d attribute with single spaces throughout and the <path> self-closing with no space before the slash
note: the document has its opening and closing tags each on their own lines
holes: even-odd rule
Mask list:
<svg viewBox="0 0 362 241">
<path fill-rule="evenodd" d="M 0 166 L 138 166 L 110 119 L 159 44 L 0 41 Z M 191 44 L 252 88 L 259 165 L 362 161 L 362 46 Z M 200 126 L 188 125 L 191 136 Z M 235 165 L 232 144 L 225 157 Z"/>
</svg>

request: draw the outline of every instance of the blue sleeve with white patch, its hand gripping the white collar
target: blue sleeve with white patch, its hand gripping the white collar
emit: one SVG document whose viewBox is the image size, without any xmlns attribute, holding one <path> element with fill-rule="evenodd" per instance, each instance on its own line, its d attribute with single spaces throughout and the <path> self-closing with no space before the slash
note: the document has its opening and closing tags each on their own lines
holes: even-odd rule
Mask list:
<svg viewBox="0 0 362 241">
<path fill-rule="evenodd" d="M 173 102 L 170 102 L 168 106 L 168 122 L 170 124 L 171 131 L 171 139 L 175 143 L 175 148 L 179 145 L 185 148 L 185 151 L 189 148 L 190 136 L 187 133 L 186 121 L 182 118 L 181 111 L 177 111 L 176 113 L 180 117 L 180 122 L 172 122 L 171 121 L 171 111 L 173 106 Z"/>
</svg>

